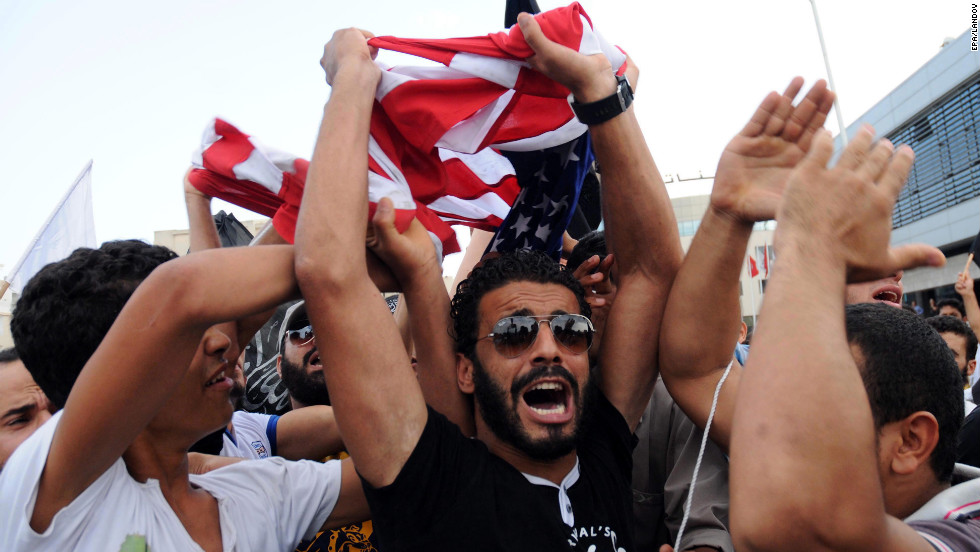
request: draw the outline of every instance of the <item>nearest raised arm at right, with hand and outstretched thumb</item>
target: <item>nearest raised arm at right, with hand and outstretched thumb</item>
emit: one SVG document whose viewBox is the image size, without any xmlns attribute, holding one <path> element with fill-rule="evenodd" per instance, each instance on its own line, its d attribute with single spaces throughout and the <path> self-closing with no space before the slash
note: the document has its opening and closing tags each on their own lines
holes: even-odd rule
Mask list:
<svg viewBox="0 0 980 552">
<path fill-rule="evenodd" d="M 732 434 L 738 550 L 931 550 L 885 513 L 868 396 L 844 327 L 845 284 L 925 264 L 891 249 L 891 212 L 912 151 L 859 131 L 833 169 L 820 131 L 779 206 L 773 268 Z M 800 389 L 806 389 L 800 400 Z"/>
</svg>

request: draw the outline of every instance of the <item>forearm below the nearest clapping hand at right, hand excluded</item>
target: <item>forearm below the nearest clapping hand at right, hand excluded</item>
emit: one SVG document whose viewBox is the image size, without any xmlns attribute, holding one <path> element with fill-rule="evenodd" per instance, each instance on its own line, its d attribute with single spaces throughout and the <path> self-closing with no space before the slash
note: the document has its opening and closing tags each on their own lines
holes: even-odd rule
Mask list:
<svg viewBox="0 0 980 552">
<path fill-rule="evenodd" d="M 845 336 L 845 268 L 819 239 L 779 245 L 735 409 L 733 535 L 771 549 L 840 543 L 884 521 L 873 515 L 883 512 L 874 424 Z"/>
</svg>

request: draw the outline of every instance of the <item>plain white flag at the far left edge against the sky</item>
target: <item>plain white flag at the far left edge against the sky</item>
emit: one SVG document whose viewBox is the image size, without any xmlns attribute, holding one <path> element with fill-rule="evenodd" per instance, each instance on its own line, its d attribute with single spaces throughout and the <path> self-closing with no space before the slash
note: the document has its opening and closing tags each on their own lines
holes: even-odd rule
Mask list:
<svg viewBox="0 0 980 552">
<path fill-rule="evenodd" d="M 97 245 L 92 216 L 92 162 L 89 161 L 7 276 L 10 289 L 20 293 L 44 265 L 64 259 L 79 247 Z"/>
</svg>

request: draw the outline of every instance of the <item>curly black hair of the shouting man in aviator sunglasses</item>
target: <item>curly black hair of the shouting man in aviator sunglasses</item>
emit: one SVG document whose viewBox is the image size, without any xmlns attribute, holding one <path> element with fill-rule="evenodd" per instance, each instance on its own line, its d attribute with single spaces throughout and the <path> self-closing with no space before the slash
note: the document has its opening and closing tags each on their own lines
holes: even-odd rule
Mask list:
<svg viewBox="0 0 980 552">
<path fill-rule="evenodd" d="M 592 316 L 592 309 L 585 301 L 585 289 L 572 276 L 571 271 L 565 270 L 565 267 L 540 251 L 518 250 L 504 253 L 487 259 L 481 266 L 474 268 L 470 277 L 456 287 L 450 312 L 453 317 L 456 352 L 469 359 L 475 358 L 480 300 L 487 293 L 512 282 L 565 286 L 575 294 L 581 313 Z"/>
</svg>

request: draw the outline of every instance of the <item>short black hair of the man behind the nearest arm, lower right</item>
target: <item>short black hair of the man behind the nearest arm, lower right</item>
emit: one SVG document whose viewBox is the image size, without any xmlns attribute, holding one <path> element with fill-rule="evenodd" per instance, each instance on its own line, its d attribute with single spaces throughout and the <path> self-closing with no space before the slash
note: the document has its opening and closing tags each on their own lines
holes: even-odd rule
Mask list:
<svg viewBox="0 0 980 552">
<path fill-rule="evenodd" d="M 859 368 L 875 428 L 932 413 L 939 442 L 930 465 L 937 480 L 948 482 L 963 423 L 963 386 L 946 342 L 922 318 L 878 303 L 847 306 L 847 340 L 864 356 Z"/>
</svg>

